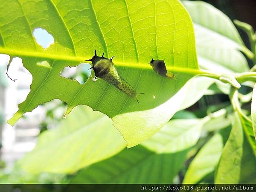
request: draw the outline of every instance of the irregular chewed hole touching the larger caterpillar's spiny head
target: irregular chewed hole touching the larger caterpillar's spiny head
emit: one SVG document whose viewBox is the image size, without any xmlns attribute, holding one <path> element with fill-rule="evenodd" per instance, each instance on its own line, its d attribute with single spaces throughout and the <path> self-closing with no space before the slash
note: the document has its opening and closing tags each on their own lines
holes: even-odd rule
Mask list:
<svg viewBox="0 0 256 192">
<path fill-rule="evenodd" d="M 79 64 L 76 67 L 65 67 L 60 76 L 65 77 L 67 79 L 76 79 L 81 84 L 84 84 L 88 79 L 91 73 L 90 64 Z"/>
</svg>

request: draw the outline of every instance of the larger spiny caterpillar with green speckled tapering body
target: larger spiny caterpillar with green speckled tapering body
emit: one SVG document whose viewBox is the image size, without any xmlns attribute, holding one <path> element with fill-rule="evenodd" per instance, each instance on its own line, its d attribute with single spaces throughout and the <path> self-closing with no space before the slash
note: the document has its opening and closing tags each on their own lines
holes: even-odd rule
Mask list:
<svg viewBox="0 0 256 192">
<path fill-rule="evenodd" d="M 105 58 L 104 52 L 103 55 L 99 57 L 97 56 L 95 49 L 95 55 L 93 56 L 93 58 L 85 60 L 91 61 L 93 64 L 93 66 L 90 67 L 90 69 L 93 69 L 95 73 L 93 81 L 96 81 L 98 77 L 104 79 L 128 96 L 135 97 L 135 99 L 139 103 L 137 96 L 143 93 L 137 93 L 130 84 L 128 84 L 121 76 L 119 76 L 112 61 L 114 57 L 115 56 L 111 57 L 110 59 Z"/>
</svg>

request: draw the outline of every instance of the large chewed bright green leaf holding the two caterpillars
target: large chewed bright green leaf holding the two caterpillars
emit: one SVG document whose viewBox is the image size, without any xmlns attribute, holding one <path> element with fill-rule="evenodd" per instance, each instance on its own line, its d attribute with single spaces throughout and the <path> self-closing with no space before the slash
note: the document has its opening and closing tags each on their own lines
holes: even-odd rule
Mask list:
<svg viewBox="0 0 256 192">
<path fill-rule="evenodd" d="M 35 28 L 46 29 L 54 44 L 43 49 Z M 104 80 L 85 84 L 60 76 L 93 56 L 116 55 L 120 75 L 141 95 L 140 104 Z M 128 143 L 137 145 L 156 133 L 177 111 L 182 97 L 171 99 L 192 75 L 175 79 L 157 75 L 151 56 L 165 59 L 167 68 L 198 69 L 192 21 L 178 0 L 0 0 L 0 53 L 22 58 L 33 76 L 31 91 L 8 122 L 52 99 L 68 105 L 88 105 L 113 119 Z M 177 99 L 179 100 L 177 102 Z"/>
</svg>

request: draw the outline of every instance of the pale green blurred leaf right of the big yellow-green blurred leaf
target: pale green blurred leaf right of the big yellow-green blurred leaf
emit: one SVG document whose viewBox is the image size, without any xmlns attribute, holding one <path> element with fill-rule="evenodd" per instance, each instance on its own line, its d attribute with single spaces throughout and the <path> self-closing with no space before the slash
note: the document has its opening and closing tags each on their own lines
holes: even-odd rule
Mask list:
<svg viewBox="0 0 256 192">
<path fill-rule="evenodd" d="M 142 143 L 156 153 L 175 153 L 195 145 L 207 119 L 174 119 Z"/>
</svg>

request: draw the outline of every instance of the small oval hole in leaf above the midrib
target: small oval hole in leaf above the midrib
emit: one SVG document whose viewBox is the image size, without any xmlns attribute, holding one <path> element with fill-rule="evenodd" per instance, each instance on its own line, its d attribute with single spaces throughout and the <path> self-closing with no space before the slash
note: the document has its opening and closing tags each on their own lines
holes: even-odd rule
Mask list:
<svg viewBox="0 0 256 192">
<path fill-rule="evenodd" d="M 35 41 L 44 47 L 44 49 L 47 49 L 51 44 L 54 43 L 54 38 L 45 29 L 36 28 L 33 35 L 35 37 Z"/>
</svg>

